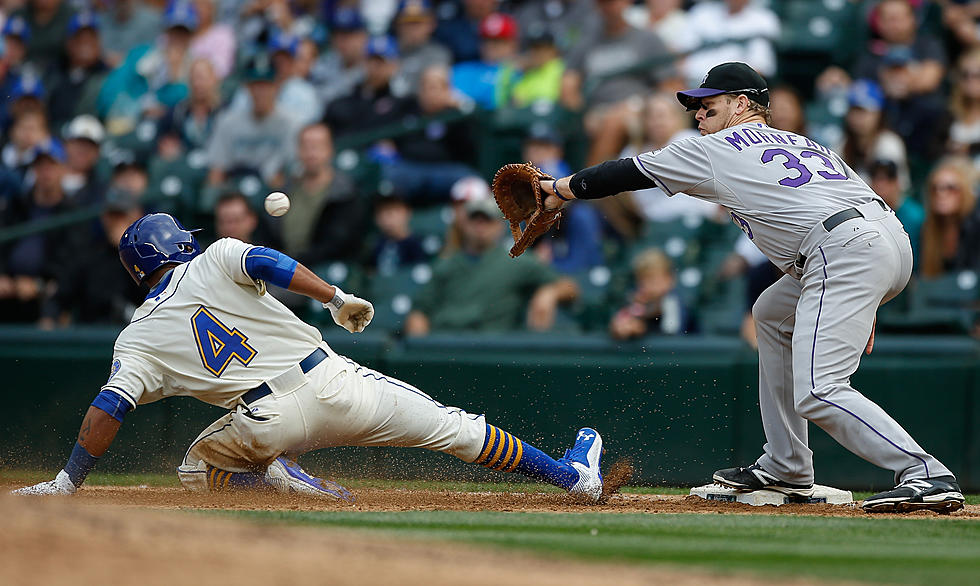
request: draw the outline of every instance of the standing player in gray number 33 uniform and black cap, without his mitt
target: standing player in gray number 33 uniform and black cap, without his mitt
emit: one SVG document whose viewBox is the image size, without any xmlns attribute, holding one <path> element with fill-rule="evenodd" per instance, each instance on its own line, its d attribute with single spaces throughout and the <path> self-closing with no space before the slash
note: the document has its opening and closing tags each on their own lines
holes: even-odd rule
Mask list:
<svg viewBox="0 0 980 586">
<path fill-rule="evenodd" d="M 759 339 L 759 403 L 766 433 L 751 466 L 714 473 L 738 489 L 809 496 L 807 421 L 865 460 L 895 472 L 867 511 L 955 511 L 953 474 L 850 385 L 874 344 L 875 312 L 912 271 L 908 235 L 891 209 L 834 152 L 769 123 L 765 80 L 744 63 L 711 69 L 678 92 L 701 137 L 542 181 L 548 209 L 572 199 L 659 187 L 725 206 L 786 275 L 752 308 Z"/>
</svg>

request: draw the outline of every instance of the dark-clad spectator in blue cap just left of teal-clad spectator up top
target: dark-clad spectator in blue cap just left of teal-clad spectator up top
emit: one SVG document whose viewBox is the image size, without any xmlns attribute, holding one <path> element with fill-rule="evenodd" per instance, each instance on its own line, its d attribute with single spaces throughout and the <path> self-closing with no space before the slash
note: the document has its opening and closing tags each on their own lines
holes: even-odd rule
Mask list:
<svg viewBox="0 0 980 586">
<path fill-rule="evenodd" d="M 81 114 L 95 112 L 99 91 L 109 74 L 109 66 L 102 61 L 99 19 L 94 13 L 72 16 L 64 46 L 64 62 L 48 77 L 48 115 L 54 128 L 61 128 Z"/>
</svg>

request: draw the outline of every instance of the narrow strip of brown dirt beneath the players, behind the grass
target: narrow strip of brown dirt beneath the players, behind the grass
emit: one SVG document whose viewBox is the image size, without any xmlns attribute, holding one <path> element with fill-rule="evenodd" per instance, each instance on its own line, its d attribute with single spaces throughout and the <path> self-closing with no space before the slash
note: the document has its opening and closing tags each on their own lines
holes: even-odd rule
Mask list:
<svg viewBox="0 0 980 586">
<path fill-rule="evenodd" d="M 0 494 L 15 485 L 0 483 Z M 122 505 L 155 509 L 240 509 L 308 511 L 513 511 L 602 513 L 724 513 L 764 515 L 868 516 L 856 506 L 782 505 L 753 507 L 742 503 L 706 501 L 682 495 L 614 494 L 600 505 L 586 505 L 560 493 L 453 492 L 361 488 L 353 505 L 275 493 L 196 494 L 181 488 L 84 486 L 73 497 L 93 505 Z M 980 506 L 967 505 L 951 515 L 919 512 L 875 517 L 944 517 L 980 520 Z"/>
</svg>

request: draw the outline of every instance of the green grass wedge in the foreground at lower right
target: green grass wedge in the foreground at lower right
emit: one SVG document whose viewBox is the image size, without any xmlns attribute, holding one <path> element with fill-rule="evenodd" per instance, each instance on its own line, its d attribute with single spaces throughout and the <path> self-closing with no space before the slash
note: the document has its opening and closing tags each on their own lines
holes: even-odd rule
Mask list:
<svg viewBox="0 0 980 586">
<path fill-rule="evenodd" d="M 980 575 L 980 523 L 967 520 L 457 511 L 220 514 L 767 578 L 968 584 Z"/>
</svg>

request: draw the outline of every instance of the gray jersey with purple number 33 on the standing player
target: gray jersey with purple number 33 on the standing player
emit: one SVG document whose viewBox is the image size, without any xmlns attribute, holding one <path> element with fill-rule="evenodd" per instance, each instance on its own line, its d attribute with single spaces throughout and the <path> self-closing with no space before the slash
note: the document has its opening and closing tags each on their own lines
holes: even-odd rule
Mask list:
<svg viewBox="0 0 980 586">
<path fill-rule="evenodd" d="M 683 192 L 725 206 L 759 250 L 790 274 L 817 222 L 877 197 L 830 149 L 755 122 L 677 141 L 633 162 L 668 195 Z"/>
</svg>

